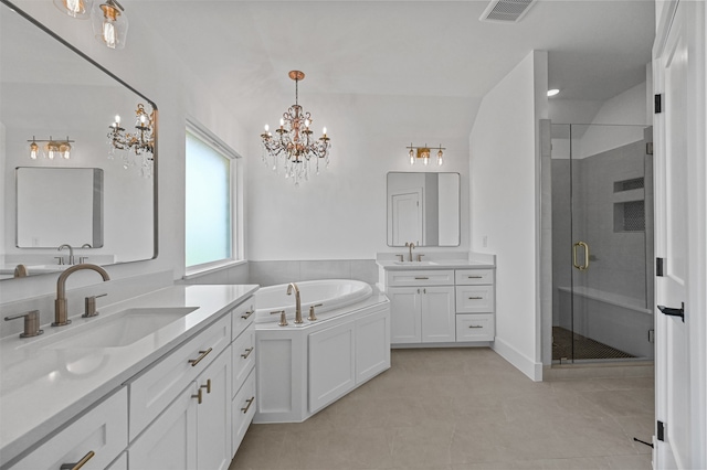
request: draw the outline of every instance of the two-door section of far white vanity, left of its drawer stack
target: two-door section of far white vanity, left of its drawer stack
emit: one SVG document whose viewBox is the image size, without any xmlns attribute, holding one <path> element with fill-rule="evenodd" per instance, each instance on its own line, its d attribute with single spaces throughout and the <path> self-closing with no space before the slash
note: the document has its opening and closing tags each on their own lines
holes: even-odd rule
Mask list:
<svg viewBox="0 0 707 470">
<path fill-rule="evenodd" d="M 389 271 L 391 343 L 456 341 L 453 270 Z"/>
</svg>

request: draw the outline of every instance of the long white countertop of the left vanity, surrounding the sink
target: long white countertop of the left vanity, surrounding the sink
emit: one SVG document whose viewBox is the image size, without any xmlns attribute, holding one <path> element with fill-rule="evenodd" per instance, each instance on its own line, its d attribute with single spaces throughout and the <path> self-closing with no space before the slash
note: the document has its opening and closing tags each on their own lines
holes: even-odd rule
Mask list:
<svg viewBox="0 0 707 470">
<path fill-rule="evenodd" d="M 257 288 L 173 286 L 99 308 L 96 318 L 77 314 L 66 327 L 43 325 L 40 337 L 0 341 L 0 466 L 212 324 Z M 43 349 L 72 329 L 86 328 L 125 309 L 149 307 L 198 308 L 127 346 Z"/>
</svg>

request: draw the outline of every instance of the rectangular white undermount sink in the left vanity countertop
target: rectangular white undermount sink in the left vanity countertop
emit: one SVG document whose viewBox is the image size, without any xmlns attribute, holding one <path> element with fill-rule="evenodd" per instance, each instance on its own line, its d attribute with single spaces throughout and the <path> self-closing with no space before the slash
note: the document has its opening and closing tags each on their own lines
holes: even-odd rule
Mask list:
<svg viewBox="0 0 707 470">
<path fill-rule="evenodd" d="M 177 321 L 198 307 L 134 308 L 97 318 L 94 324 L 86 323 L 43 346 L 48 350 L 78 348 L 124 348 L 152 334 L 162 327 Z"/>
</svg>

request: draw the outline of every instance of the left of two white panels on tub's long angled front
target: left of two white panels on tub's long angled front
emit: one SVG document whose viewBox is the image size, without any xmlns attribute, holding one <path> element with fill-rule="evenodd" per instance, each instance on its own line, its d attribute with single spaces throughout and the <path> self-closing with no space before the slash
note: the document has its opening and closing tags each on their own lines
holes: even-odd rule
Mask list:
<svg viewBox="0 0 707 470">
<path fill-rule="evenodd" d="M 315 413 L 356 385 L 354 322 L 309 334 L 309 412 Z"/>
</svg>

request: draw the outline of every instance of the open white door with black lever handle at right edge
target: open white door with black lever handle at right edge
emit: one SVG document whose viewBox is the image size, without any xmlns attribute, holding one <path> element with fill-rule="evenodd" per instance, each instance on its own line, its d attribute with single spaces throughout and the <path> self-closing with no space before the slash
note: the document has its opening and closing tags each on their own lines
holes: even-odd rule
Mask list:
<svg viewBox="0 0 707 470">
<path fill-rule="evenodd" d="M 661 23 L 654 46 L 655 87 L 662 94 L 662 113 L 655 115 L 661 140 L 655 241 L 663 263 L 655 285 L 657 468 L 707 464 L 704 8 L 704 2 L 673 2 L 672 24 Z"/>
</svg>

